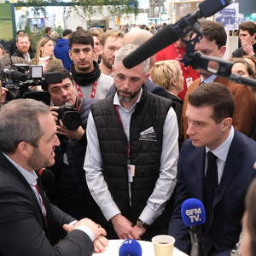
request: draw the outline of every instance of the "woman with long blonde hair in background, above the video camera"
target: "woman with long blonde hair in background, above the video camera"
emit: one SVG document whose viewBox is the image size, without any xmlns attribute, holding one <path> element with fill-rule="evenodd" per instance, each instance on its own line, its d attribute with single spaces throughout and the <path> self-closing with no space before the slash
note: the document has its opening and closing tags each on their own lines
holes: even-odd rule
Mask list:
<svg viewBox="0 0 256 256">
<path fill-rule="evenodd" d="M 37 45 L 36 56 L 32 59 L 30 64 L 40 65 L 43 67 L 43 72 L 47 72 L 50 67 L 63 67 L 61 60 L 56 59 L 54 55 L 54 42 L 50 38 L 42 38 Z"/>
</svg>

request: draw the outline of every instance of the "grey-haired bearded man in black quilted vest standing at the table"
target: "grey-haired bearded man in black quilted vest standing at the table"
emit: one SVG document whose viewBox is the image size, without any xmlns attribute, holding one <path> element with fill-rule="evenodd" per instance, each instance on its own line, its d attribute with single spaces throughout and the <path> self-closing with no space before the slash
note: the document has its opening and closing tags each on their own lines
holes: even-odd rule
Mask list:
<svg viewBox="0 0 256 256">
<path fill-rule="evenodd" d="M 115 55 L 116 93 L 92 104 L 84 160 L 86 181 L 101 208 L 108 238 L 150 240 L 166 233 L 166 203 L 177 174 L 177 118 L 172 101 L 147 91 L 149 60 L 127 69 Z"/>
</svg>

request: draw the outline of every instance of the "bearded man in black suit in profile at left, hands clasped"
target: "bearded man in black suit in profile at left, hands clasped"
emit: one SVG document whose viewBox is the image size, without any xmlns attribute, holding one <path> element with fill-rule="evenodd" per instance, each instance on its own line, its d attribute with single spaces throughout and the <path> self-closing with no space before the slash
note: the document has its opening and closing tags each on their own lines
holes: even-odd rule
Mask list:
<svg viewBox="0 0 256 256">
<path fill-rule="evenodd" d="M 37 181 L 34 170 L 53 165 L 60 144 L 49 107 L 32 99 L 9 102 L 0 112 L 0 134 L 0 255 L 85 256 L 93 253 L 92 241 L 102 250 L 105 230 L 61 212 Z"/>
</svg>

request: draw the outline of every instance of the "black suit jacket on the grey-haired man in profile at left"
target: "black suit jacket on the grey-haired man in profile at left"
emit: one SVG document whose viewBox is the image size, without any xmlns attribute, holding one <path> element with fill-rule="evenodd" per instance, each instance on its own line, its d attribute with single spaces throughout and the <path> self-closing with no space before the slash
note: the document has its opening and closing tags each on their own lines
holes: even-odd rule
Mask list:
<svg viewBox="0 0 256 256">
<path fill-rule="evenodd" d="M 0 255 L 85 256 L 93 253 L 90 237 L 81 230 L 73 230 L 58 242 L 63 234 L 62 225 L 74 218 L 50 204 L 38 183 L 47 212 L 46 225 L 31 186 L 2 153 L 0 177 Z"/>
</svg>

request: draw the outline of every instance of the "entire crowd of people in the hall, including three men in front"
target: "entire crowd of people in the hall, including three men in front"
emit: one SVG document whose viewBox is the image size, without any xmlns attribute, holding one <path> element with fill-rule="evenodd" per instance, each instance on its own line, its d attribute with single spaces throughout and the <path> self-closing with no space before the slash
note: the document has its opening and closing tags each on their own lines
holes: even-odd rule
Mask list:
<svg viewBox="0 0 256 256">
<path fill-rule="evenodd" d="M 189 254 L 189 198 L 206 208 L 204 256 L 255 254 L 255 88 L 210 73 L 215 61 L 185 67 L 184 40 L 196 32 L 126 68 L 150 29 L 78 27 L 60 38 L 47 27 L 35 52 L 24 31 L 11 55 L 0 44 L 0 69 L 61 75 L 28 88 L 46 93 L 47 106 L 9 100 L 0 73 L 0 255 L 91 255 L 108 239 L 164 234 Z M 201 34 L 195 50 L 223 58 L 224 26 L 204 20 Z M 239 38 L 230 73 L 256 79 L 256 24 L 241 23 Z"/>
</svg>

